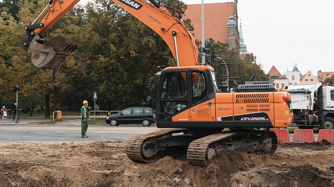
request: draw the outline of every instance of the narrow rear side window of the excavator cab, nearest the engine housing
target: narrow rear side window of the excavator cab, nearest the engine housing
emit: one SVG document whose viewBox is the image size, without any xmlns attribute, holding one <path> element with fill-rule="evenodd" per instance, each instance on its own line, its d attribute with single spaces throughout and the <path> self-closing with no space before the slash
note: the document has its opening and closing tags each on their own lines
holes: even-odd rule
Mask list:
<svg viewBox="0 0 334 187">
<path fill-rule="evenodd" d="M 204 99 L 206 95 L 206 82 L 205 76 L 202 72 L 192 72 L 192 91 L 193 91 L 193 104 Z"/>
</svg>

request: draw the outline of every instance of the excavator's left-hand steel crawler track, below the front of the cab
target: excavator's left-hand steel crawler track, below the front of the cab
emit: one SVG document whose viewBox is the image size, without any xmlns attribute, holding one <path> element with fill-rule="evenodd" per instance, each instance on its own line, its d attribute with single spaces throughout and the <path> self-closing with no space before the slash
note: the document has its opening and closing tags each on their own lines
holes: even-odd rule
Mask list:
<svg viewBox="0 0 334 187">
<path fill-rule="evenodd" d="M 153 160 L 157 160 L 163 157 L 166 152 L 159 151 L 157 152 L 157 154 L 151 157 L 142 156 L 141 146 L 145 143 L 145 141 L 152 141 L 154 139 L 168 137 L 168 136 L 171 136 L 173 133 L 180 133 L 180 132 L 187 132 L 187 129 L 182 129 L 182 128 L 163 129 L 163 130 L 154 131 L 148 134 L 132 137 L 131 139 L 129 139 L 128 145 L 126 147 L 126 155 L 131 160 L 139 161 L 139 162 L 150 162 Z M 179 148 L 169 147 L 168 150 L 169 150 L 169 153 L 173 151 L 177 152 L 179 151 Z"/>
</svg>

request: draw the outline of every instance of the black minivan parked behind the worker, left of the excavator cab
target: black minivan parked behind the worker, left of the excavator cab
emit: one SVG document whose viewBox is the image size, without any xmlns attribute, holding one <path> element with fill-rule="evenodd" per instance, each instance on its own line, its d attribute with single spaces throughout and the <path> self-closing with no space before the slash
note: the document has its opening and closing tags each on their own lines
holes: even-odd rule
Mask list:
<svg viewBox="0 0 334 187">
<path fill-rule="evenodd" d="M 126 108 L 116 114 L 113 114 L 106 119 L 106 123 L 111 126 L 118 126 L 119 124 L 142 124 L 149 126 L 155 122 L 155 115 L 149 107 L 130 107 Z"/>
</svg>

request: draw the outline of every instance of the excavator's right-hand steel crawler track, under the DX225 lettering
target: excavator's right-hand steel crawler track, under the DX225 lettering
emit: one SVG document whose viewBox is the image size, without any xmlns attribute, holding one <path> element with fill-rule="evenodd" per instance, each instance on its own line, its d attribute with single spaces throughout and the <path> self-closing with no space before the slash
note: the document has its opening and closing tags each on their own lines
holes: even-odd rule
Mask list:
<svg viewBox="0 0 334 187">
<path fill-rule="evenodd" d="M 270 149 L 266 150 L 255 150 L 253 153 L 264 153 L 273 154 L 277 149 L 277 137 L 272 131 L 264 130 L 246 130 L 246 131 L 226 131 L 214 133 L 199 139 L 196 139 L 190 143 L 187 151 L 187 160 L 190 164 L 196 165 L 208 165 L 210 158 L 208 158 L 208 150 L 210 145 L 213 143 L 221 142 L 221 146 L 225 146 L 223 149 L 229 149 L 228 146 L 224 144 L 224 140 L 231 139 L 233 136 L 246 136 L 249 134 L 260 135 L 262 137 L 271 138 L 272 146 Z"/>
</svg>

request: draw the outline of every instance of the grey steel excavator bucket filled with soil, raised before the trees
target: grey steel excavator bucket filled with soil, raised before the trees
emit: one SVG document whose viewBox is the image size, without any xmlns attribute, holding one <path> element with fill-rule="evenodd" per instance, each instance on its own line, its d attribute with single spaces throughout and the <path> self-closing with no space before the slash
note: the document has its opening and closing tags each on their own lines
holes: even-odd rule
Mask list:
<svg viewBox="0 0 334 187">
<path fill-rule="evenodd" d="M 57 68 L 76 48 L 74 41 L 60 35 L 48 42 L 36 35 L 29 45 L 28 54 L 36 67 Z"/>
</svg>

